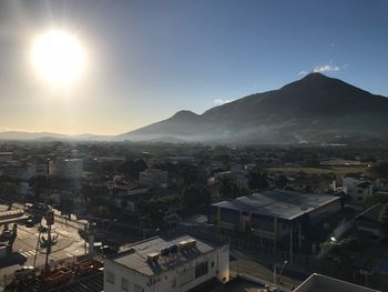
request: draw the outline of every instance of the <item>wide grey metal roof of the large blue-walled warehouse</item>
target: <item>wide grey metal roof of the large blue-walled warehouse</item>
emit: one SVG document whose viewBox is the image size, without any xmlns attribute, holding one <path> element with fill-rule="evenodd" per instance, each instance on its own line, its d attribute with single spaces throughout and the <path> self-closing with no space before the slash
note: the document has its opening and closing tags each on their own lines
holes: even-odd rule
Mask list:
<svg viewBox="0 0 388 292">
<path fill-rule="evenodd" d="M 306 194 L 282 190 L 239 197 L 235 200 L 223 201 L 213 205 L 284 220 L 294 220 L 304 213 L 337 200 L 339 200 L 339 197 L 329 194 Z"/>
</svg>

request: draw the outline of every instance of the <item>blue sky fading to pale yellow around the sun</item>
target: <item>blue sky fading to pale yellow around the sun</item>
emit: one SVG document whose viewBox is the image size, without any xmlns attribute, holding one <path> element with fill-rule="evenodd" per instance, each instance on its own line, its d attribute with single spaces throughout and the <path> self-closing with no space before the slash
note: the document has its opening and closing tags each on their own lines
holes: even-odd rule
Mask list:
<svg viewBox="0 0 388 292">
<path fill-rule="evenodd" d="M 76 36 L 85 71 L 37 78 L 34 38 Z M 388 1 L 0 0 L 0 131 L 119 134 L 319 71 L 388 97 Z"/>
</svg>

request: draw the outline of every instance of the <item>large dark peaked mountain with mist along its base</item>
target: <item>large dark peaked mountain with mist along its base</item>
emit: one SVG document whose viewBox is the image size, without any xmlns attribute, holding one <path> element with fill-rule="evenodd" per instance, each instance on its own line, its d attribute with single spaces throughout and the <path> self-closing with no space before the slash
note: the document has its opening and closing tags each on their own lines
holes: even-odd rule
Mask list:
<svg viewBox="0 0 388 292">
<path fill-rule="evenodd" d="M 252 94 L 203 114 L 170 119 L 118 135 L 132 141 L 295 143 L 341 137 L 388 139 L 388 99 L 341 80 L 310 73 L 280 89 Z"/>
</svg>

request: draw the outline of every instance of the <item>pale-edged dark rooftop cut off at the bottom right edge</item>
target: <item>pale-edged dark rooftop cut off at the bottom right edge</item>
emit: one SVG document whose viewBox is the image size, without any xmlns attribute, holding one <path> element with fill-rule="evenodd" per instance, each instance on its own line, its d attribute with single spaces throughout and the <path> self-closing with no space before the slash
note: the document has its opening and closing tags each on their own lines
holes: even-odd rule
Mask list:
<svg viewBox="0 0 388 292">
<path fill-rule="evenodd" d="M 323 274 L 312 274 L 294 292 L 379 292 Z"/>
</svg>

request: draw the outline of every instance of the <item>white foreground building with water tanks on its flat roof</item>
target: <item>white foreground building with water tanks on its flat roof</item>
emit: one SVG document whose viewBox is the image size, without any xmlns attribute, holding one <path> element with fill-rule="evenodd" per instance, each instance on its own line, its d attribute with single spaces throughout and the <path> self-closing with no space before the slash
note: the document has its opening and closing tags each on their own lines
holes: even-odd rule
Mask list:
<svg viewBox="0 0 388 292">
<path fill-rule="evenodd" d="M 104 264 L 104 291 L 188 291 L 206 281 L 229 280 L 229 246 L 184 235 L 153 238 L 130 246 Z"/>
</svg>

